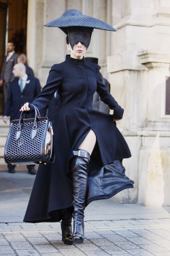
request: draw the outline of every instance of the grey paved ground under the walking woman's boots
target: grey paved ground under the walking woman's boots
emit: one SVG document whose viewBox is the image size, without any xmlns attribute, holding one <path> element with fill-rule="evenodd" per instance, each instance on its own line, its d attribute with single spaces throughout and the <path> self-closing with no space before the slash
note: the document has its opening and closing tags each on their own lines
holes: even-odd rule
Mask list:
<svg viewBox="0 0 170 256">
<path fill-rule="evenodd" d="M 61 242 L 60 223 L 23 223 L 35 176 L 0 171 L 0 256 L 170 256 L 170 208 L 145 208 L 113 199 L 90 203 L 84 244 Z"/>
</svg>

